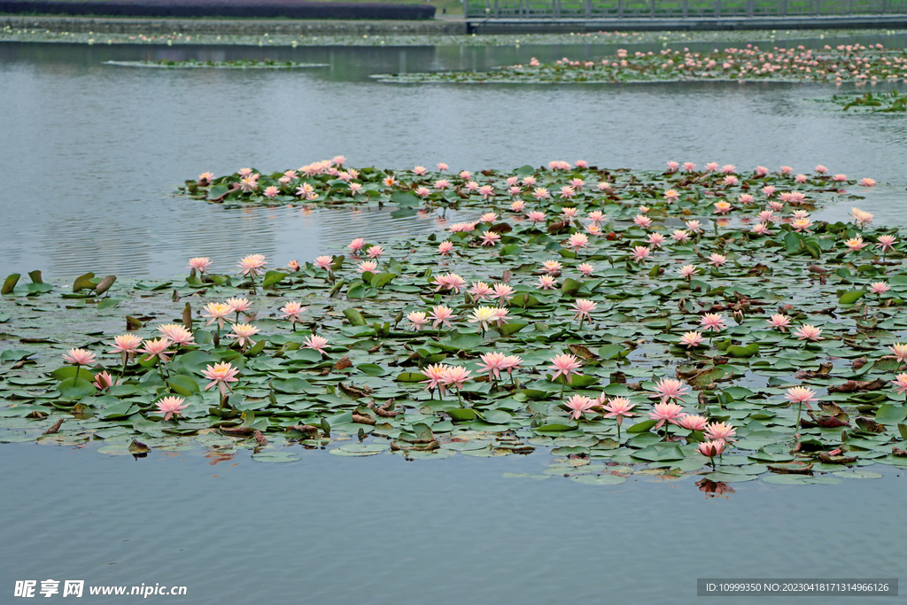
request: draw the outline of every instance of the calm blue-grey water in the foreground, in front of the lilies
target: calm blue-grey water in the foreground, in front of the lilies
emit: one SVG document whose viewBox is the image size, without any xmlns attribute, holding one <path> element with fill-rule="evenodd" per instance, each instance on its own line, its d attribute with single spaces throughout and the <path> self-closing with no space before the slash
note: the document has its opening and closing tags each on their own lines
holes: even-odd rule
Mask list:
<svg viewBox="0 0 907 605">
<path fill-rule="evenodd" d="M 539 473 L 547 454 L 211 465 L 200 451 L 133 461 L 91 449 L 0 446 L 3 590 L 69 578 L 185 585 L 179 603 L 675 605 L 697 602 L 703 577 L 903 570 L 900 470 L 809 487 L 607 487 L 502 478 Z"/>
</svg>

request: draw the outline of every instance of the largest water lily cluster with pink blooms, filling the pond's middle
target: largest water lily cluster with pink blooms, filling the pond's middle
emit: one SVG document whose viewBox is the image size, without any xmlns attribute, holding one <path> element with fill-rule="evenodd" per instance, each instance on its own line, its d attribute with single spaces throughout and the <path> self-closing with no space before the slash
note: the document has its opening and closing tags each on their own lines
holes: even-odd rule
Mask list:
<svg viewBox="0 0 907 605">
<path fill-rule="evenodd" d="M 810 218 L 845 195 L 844 175 L 344 161 L 279 187 L 348 204 L 363 182 L 405 209 L 483 213 L 317 259 L 250 254 L 231 275 L 193 258 L 163 282 L 11 276 L 0 441 L 202 445 L 212 463 L 242 449 L 262 462 L 541 450 L 548 469 L 512 476 L 695 479 L 707 493 L 907 464 L 904 243 L 859 208 L 847 223 Z M 253 174 L 187 192 L 252 179 L 237 202 L 268 200 L 272 177 Z"/>
</svg>

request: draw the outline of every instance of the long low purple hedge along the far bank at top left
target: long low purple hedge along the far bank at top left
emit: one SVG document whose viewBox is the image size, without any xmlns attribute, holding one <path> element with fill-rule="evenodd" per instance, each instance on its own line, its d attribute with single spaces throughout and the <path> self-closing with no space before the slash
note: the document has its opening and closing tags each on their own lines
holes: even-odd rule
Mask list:
<svg viewBox="0 0 907 605">
<path fill-rule="evenodd" d="M 0 13 L 142 17 L 290 17 L 295 19 L 432 19 L 434 6 L 297 0 L 0 0 Z"/>
</svg>

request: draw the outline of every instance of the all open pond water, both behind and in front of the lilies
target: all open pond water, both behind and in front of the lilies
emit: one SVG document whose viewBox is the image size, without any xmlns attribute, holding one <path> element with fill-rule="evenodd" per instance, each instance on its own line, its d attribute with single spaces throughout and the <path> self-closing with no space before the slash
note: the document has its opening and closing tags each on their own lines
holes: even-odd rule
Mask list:
<svg viewBox="0 0 907 605">
<path fill-rule="evenodd" d="M 283 264 L 355 236 L 436 229 L 432 216 L 230 210 L 171 195 L 201 171 L 283 170 L 337 153 L 353 165 L 400 169 L 585 159 L 643 170 L 691 160 L 809 171 L 821 162 L 879 181 L 860 206 L 877 223 L 907 226 L 907 120 L 809 101 L 834 88 L 367 79 L 532 54 L 550 58 L 525 48 L 0 44 L 5 272 L 165 277 L 190 256 L 211 256 L 217 269 L 251 252 Z M 169 72 L 102 64 L 264 56 L 331 66 Z M 833 486 L 735 483 L 736 493 L 713 497 L 690 479 L 593 487 L 502 478 L 539 473 L 548 454 L 406 464 L 317 451 L 296 464 L 242 454 L 210 465 L 201 451 L 133 461 L 92 449 L 0 446 L 3 594 L 16 580 L 54 578 L 186 585 L 186 597 L 171 599 L 185 603 L 688 603 L 697 600 L 698 577 L 902 571 L 907 489 L 895 469 Z"/>
</svg>

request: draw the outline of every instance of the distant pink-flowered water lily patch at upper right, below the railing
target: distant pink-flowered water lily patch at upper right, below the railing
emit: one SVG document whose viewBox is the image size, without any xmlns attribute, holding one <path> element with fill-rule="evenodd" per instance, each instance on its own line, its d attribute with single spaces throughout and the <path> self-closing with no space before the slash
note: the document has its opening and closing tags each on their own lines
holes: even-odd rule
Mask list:
<svg viewBox="0 0 907 605">
<path fill-rule="evenodd" d="M 761 50 L 727 48 L 712 53 L 688 49 L 630 53 L 597 60 L 553 63 L 532 59 L 488 72 L 395 73 L 373 76 L 386 83 L 632 83 L 666 81 L 775 81 L 874 83 L 907 81 L 907 52 L 884 49 L 882 44 L 825 45 L 822 50 L 777 47 Z"/>
</svg>

